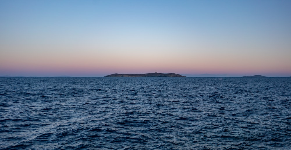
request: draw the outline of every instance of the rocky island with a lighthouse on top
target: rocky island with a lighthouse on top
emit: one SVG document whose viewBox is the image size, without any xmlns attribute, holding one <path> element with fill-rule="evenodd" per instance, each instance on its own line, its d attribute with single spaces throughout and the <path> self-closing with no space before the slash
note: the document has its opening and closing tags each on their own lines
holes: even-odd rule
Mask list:
<svg viewBox="0 0 291 150">
<path fill-rule="evenodd" d="M 148 74 L 111 74 L 107 75 L 105 77 L 186 77 L 182 76 L 180 74 L 174 74 L 174 73 L 169 73 L 169 74 L 162 74 L 162 73 L 148 73 Z"/>
</svg>

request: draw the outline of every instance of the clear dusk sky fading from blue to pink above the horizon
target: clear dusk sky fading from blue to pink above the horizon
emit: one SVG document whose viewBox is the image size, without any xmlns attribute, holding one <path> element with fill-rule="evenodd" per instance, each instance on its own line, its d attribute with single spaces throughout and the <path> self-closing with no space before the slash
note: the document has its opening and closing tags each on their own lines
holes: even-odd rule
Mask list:
<svg viewBox="0 0 291 150">
<path fill-rule="evenodd" d="M 291 76 L 290 0 L 0 0 L 0 76 Z"/>
</svg>

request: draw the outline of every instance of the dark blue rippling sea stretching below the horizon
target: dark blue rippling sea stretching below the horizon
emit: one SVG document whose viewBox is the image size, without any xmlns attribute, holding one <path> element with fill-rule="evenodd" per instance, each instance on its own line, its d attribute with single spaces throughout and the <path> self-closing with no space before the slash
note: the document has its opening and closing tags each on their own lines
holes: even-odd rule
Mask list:
<svg viewBox="0 0 291 150">
<path fill-rule="evenodd" d="M 1 77 L 0 149 L 291 149 L 291 78 Z"/>
</svg>

